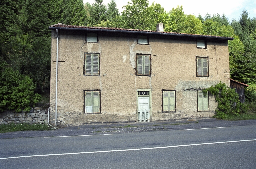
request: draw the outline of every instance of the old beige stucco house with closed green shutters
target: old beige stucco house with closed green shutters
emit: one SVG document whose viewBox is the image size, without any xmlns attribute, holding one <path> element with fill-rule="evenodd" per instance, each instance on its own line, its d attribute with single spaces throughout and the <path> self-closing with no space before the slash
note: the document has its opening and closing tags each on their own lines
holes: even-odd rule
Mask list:
<svg viewBox="0 0 256 169">
<path fill-rule="evenodd" d="M 217 103 L 202 89 L 230 83 L 233 38 L 164 32 L 161 23 L 157 31 L 61 23 L 49 29 L 52 123 L 211 117 Z"/>
</svg>

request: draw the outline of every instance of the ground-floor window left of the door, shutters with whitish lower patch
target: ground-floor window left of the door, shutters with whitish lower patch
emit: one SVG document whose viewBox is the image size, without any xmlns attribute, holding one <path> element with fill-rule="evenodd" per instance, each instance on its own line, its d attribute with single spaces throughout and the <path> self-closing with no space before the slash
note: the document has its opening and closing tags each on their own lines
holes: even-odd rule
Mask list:
<svg viewBox="0 0 256 169">
<path fill-rule="evenodd" d="M 100 113 L 100 91 L 84 91 L 84 113 Z"/>
</svg>

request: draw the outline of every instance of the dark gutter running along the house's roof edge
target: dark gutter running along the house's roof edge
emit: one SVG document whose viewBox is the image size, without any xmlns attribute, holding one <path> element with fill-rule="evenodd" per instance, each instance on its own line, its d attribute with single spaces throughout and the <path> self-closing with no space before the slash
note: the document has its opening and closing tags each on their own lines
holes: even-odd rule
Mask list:
<svg viewBox="0 0 256 169">
<path fill-rule="evenodd" d="M 121 32 L 121 33 L 138 33 L 138 34 L 153 34 L 153 35 L 169 35 L 179 37 L 193 37 L 193 38 L 207 38 L 207 39 L 218 39 L 218 40 L 233 40 L 231 37 L 219 37 L 209 35 L 192 35 L 192 34 L 177 34 L 177 33 L 166 33 L 166 32 L 147 32 L 147 31 L 131 31 L 131 30 L 113 30 L 113 29 L 91 29 L 91 28 L 65 28 L 65 27 L 49 27 L 49 29 L 60 29 L 60 30 L 80 30 L 80 31 L 98 31 L 98 32 Z"/>
</svg>

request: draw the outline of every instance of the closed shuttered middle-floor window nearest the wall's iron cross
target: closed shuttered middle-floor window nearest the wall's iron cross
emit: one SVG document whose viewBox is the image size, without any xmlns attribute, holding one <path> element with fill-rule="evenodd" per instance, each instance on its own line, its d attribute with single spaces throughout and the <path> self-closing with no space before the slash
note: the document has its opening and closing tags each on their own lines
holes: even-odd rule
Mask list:
<svg viewBox="0 0 256 169">
<path fill-rule="evenodd" d="M 100 54 L 85 53 L 84 56 L 84 75 L 100 74 Z"/>
</svg>

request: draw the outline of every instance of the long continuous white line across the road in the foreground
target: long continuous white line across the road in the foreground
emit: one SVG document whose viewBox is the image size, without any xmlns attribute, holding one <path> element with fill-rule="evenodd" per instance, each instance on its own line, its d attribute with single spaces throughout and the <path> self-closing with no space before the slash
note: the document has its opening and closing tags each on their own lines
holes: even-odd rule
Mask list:
<svg viewBox="0 0 256 169">
<path fill-rule="evenodd" d="M 40 156 L 56 156 L 56 155 L 71 155 L 71 154 L 106 153 L 106 152 L 117 152 L 117 151 L 150 150 L 150 149 L 185 147 L 185 146 L 196 146 L 196 145 L 206 145 L 206 144 L 234 143 L 234 142 L 243 142 L 243 141 L 256 141 L 256 139 L 254 139 L 254 140 L 224 141 L 224 142 L 214 142 L 214 143 L 187 144 L 187 145 L 166 146 L 166 147 L 136 148 L 136 149 L 124 149 L 124 150 L 91 151 L 91 152 L 62 153 L 62 154 L 42 154 L 42 155 L 31 155 L 31 156 L 6 157 L 6 158 L 0 158 L 0 160 L 11 159 L 11 158 L 24 158 L 24 157 L 40 157 Z"/>
</svg>

